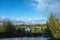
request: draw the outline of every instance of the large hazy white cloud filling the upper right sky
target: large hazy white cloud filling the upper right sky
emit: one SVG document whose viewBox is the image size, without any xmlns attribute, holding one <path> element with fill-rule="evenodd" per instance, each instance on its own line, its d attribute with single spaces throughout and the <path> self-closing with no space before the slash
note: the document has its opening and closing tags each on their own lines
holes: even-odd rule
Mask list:
<svg viewBox="0 0 60 40">
<path fill-rule="evenodd" d="M 33 0 L 30 5 L 38 11 L 45 11 L 47 8 L 49 11 L 60 13 L 59 0 Z"/>
</svg>

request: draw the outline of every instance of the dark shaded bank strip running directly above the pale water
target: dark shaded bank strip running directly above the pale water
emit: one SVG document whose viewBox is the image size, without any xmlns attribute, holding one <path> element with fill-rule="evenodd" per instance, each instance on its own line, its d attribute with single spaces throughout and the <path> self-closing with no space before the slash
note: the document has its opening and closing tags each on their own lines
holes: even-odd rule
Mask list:
<svg viewBox="0 0 60 40">
<path fill-rule="evenodd" d="M 0 33 L 0 38 L 15 38 L 15 37 L 51 37 L 48 34 L 42 33 Z"/>
</svg>

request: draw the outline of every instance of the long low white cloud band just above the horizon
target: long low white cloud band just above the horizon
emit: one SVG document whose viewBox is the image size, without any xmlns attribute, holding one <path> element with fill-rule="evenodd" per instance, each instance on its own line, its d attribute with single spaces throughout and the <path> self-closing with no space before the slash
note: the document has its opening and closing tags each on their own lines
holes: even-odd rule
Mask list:
<svg viewBox="0 0 60 40">
<path fill-rule="evenodd" d="M 33 19 L 28 18 L 26 20 L 22 20 L 21 18 L 6 18 L 4 16 L 0 17 L 0 22 L 3 22 L 4 20 L 10 20 L 13 24 L 43 24 L 45 23 L 45 19 Z"/>
</svg>

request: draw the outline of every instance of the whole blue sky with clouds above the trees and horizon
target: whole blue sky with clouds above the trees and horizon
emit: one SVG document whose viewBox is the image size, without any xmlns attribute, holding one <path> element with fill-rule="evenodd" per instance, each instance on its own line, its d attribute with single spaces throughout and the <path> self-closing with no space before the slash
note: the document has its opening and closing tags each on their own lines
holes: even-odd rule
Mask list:
<svg viewBox="0 0 60 40">
<path fill-rule="evenodd" d="M 52 12 L 60 17 L 60 0 L 0 0 L 0 21 L 40 20 L 45 23 Z"/>
</svg>

